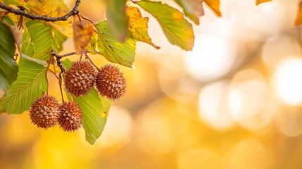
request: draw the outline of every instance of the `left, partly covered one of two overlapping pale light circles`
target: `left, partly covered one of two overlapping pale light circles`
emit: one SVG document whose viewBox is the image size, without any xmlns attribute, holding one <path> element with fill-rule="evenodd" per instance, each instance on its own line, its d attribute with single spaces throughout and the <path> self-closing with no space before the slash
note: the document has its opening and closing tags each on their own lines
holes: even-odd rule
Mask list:
<svg viewBox="0 0 302 169">
<path fill-rule="evenodd" d="M 203 120 L 218 130 L 233 125 L 227 102 L 228 82 L 216 82 L 203 87 L 199 94 L 199 113 Z"/>
</svg>

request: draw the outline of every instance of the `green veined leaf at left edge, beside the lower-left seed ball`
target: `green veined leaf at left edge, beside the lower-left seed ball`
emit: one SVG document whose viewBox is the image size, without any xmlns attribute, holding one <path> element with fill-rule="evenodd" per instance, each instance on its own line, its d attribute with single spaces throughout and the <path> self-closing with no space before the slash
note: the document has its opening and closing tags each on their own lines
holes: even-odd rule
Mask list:
<svg viewBox="0 0 302 169">
<path fill-rule="evenodd" d="M 0 113 L 20 114 L 46 92 L 46 67 L 21 58 L 18 78 L 11 84 L 6 96 L 0 99 Z"/>
</svg>

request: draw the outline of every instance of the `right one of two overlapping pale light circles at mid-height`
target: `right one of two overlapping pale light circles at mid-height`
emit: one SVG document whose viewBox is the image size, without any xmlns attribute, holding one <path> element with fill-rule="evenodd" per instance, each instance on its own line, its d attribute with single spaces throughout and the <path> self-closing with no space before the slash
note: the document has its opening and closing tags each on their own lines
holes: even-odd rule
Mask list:
<svg viewBox="0 0 302 169">
<path fill-rule="evenodd" d="M 268 124 L 272 115 L 265 114 L 268 86 L 256 70 L 237 73 L 229 87 L 229 107 L 233 118 L 248 130 L 258 130 Z"/>
</svg>

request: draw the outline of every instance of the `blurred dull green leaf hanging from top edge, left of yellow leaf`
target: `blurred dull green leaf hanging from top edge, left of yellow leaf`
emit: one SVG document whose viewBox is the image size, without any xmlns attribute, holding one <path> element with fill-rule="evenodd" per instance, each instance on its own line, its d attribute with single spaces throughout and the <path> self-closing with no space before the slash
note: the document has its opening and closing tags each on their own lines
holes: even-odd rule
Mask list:
<svg viewBox="0 0 302 169">
<path fill-rule="evenodd" d="M 128 31 L 128 17 L 125 13 L 127 0 L 106 0 L 106 16 L 113 35 L 124 42 Z"/>
</svg>

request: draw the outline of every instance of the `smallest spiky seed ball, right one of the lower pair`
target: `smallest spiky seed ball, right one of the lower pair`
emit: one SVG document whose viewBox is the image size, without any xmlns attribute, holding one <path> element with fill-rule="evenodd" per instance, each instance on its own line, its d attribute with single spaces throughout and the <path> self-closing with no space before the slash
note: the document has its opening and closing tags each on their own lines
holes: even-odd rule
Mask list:
<svg viewBox="0 0 302 169">
<path fill-rule="evenodd" d="M 75 131 L 82 126 L 82 111 L 74 101 L 61 104 L 58 124 L 64 131 Z"/>
</svg>

